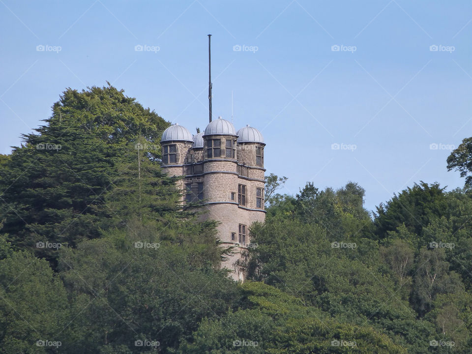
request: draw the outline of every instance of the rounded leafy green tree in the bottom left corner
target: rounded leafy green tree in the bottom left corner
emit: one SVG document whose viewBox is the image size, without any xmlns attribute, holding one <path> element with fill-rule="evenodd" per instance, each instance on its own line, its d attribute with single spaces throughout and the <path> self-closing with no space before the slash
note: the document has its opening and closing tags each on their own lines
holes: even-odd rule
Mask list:
<svg viewBox="0 0 472 354">
<path fill-rule="evenodd" d="M 0 260 L 0 347 L 4 353 L 68 352 L 74 334 L 65 324 L 73 315 L 62 282 L 46 261 L 24 251 Z"/>
</svg>

